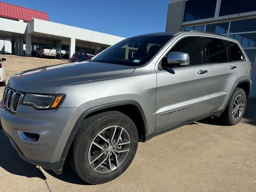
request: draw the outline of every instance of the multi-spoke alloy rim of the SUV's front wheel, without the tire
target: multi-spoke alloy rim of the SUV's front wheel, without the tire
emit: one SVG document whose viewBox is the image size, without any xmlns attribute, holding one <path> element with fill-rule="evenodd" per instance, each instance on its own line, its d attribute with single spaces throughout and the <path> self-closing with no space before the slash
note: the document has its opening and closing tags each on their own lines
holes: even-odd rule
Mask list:
<svg viewBox="0 0 256 192">
<path fill-rule="evenodd" d="M 118 168 L 130 149 L 130 136 L 121 126 L 104 128 L 92 140 L 88 160 L 93 170 L 108 173 Z"/>
</svg>

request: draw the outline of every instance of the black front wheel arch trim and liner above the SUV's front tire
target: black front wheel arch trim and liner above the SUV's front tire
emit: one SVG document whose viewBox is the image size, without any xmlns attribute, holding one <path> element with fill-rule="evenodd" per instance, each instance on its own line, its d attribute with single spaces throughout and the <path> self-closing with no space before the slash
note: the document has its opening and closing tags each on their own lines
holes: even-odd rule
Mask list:
<svg viewBox="0 0 256 192">
<path fill-rule="evenodd" d="M 132 109 L 136 110 L 136 111 L 131 111 Z M 144 114 L 140 104 L 134 100 L 113 102 L 113 103 L 104 104 L 104 105 L 90 108 L 90 109 L 84 111 L 80 115 L 80 117 L 76 121 L 76 124 L 74 125 L 74 127 L 70 133 L 70 136 L 66 142 L 66 145 L 62 152 L 62 156 L 61 156 L 60 160 L 64 160 L 66 158 L 68 151 L 70 150 L 70 146 L 74 140 L 74 137 L 75 137 L 82 121 L 85 118 L 93 116 L 94 114 L 98 114 L 98 113 L 106 112 L 106 111 L 110 111 L 110 110 L 118 110 L 119 112 L 122 112 L 122 113 L 126 114 L 127 116 L 129 116 L 134 121 L 134 124 L 136 125 L 136 128 L 138 130 L 139 141 L 142 141 L 142 142 L 146 141 L 146 135 L 148 134 L 147 122 L 146 122 L 145 114 Z M 135 118 L 136 115 L 140 115 L 140 116 L 137 116 L 137 118 Z M 143 126 L 143 127 L 140 128 L 138 126 Z"/>
</svg>

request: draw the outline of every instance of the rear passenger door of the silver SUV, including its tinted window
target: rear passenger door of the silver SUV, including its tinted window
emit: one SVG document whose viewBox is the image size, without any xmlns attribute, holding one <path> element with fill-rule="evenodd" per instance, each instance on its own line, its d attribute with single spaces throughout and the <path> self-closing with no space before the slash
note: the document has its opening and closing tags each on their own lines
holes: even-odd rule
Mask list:
<svg viewBox="0 0 256 192">
<path fill-rule="evenodd" d="M 219 38 L 204 38 L 206 62 L 210 66 L 210 86 L 206 112 L 222 110 L 234 84 L 239 81 L 235 62 L 228 54 L 225 41 Z"/>
</svg>

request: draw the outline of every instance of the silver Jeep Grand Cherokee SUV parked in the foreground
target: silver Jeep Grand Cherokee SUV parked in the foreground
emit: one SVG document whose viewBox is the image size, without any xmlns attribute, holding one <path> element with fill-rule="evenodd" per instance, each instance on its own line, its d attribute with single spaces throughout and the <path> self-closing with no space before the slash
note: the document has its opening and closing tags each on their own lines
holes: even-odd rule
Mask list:
<svg viewBox="0 0 256 192">
<path fill-rule="evenodd" d="M 208 116 L 240 122 L 251 73 L 241 45 L 225 36 L 135 36 L 87 62 L 13 75 L 2 127 L 25 161 L 61 174 L 67 158 L 80 178 L 100 184 L 128 168 L 138 141 Z"/>
</svg>

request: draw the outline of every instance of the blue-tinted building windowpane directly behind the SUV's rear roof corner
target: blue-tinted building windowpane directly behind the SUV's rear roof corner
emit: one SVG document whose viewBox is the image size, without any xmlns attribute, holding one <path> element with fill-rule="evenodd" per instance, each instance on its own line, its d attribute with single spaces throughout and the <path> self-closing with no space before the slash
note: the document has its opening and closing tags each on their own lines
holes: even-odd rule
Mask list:
<svg viewBox="0 0 256 192">
<path fill-rule="evenodd" d="M 234 34 L 228 37 L 238 40 L 242 47 L 256 47 L 256 33 Z"/>
</svg>

